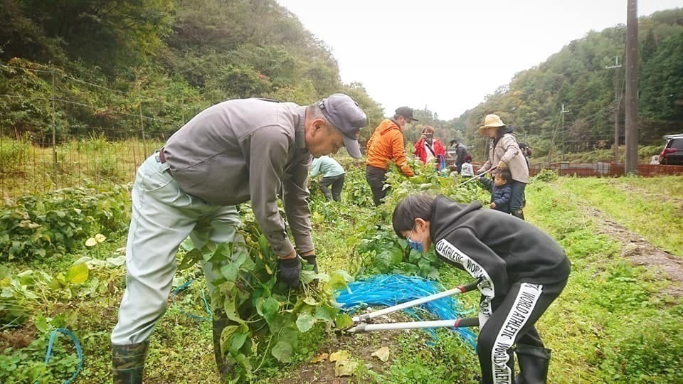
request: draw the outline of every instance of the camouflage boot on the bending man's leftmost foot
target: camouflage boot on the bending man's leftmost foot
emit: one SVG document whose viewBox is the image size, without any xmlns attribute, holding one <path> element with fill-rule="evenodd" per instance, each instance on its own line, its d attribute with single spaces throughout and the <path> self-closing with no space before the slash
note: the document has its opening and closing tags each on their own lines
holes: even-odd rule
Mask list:
<svg viewBox="0 0 683 384">
<path fill-rule="evenodd" d="M 127 345 L 112 344 L 112 374 L 114 384 L 142 384 L 144 359 L 149 341 Z"/>
</svg>

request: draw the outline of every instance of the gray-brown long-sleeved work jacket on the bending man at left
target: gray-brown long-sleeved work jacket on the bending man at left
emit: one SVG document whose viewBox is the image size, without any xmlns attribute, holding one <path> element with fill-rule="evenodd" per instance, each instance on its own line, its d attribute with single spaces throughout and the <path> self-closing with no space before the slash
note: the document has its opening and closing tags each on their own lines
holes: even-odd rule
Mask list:
<svg viewBox="0 0 683 384">
<path fill-rule="evenodd" d="M 183 191 L 207 203 L 233 206 L 251 200 L 256 221 L 278 256 L 294 250 L 277 208 L 282 188 L 297 249 L 313 250 L 305 110 L 260 99 L 213 105 L 166 142 L 171 174 Z"/>
</svg>

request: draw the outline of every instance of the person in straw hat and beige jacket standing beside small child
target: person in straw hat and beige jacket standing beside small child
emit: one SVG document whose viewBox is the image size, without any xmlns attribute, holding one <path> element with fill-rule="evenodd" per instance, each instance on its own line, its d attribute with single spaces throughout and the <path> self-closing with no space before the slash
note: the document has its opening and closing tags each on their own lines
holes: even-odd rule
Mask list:
<svg viewBox="0 0 683 384">
<path fill-rule="evenodd" d="M 497 114 L 487 114 L 479 133 L 488 136 L 489 159 L 479 172 L 485 172 L 492 166 L 498 169 L 509 169 L 512 174 L 512 197 L 510 211 L 512 215 L 524 220 L 524 188 L 529 183 L 529 164 L 519 149 L 517 137 L 512 133 L 512 126 L 506 125 Z"/>
</svg>

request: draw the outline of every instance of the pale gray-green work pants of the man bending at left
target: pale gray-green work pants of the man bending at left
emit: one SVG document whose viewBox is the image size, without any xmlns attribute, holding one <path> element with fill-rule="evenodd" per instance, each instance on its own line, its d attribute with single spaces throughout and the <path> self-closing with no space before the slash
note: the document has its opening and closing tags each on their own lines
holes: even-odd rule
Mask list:
<svg viewBox="0 0 683 384">
<path fill-rule="evenodd" d="M 211 175 L 206 175 L 211 177 Z M 239 225 L 235 206 L 215 206 L 181 190 L 158 154 L 137 170 L 132 217 L 126 245 L 126 290 L 112 331 L 112 344 L 141 343 L 166 311 L 176 273 L 176 251 L 190 236 L 195 247 L 208 240 L 232 242 Z M 203 264 L 209 289 L 216 278 L 211 262 Z"/>
</svg>

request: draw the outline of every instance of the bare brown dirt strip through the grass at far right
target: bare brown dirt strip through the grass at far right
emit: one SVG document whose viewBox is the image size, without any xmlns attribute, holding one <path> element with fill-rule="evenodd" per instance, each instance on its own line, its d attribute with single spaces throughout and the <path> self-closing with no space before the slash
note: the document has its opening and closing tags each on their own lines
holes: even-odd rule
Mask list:
<svg viewBox="0 0 683 384">
<path fill-rule="evenodd" d="M 647 242 L 645 238 L 620 225 L 609 218 L 608 215 L 590 206 L 583 209 L 596 218 L 600 233 L 609 235 L 623 245 L 621 256 L 629 260 L 633 265 L 642 265 L 648 270 L 658 270 L 662 278 L 669 280 L 671 284 L 664 289 L 665 294 L 673 297 L 683 297 L 683 260 L 671 255 Z"/>
</svg>

